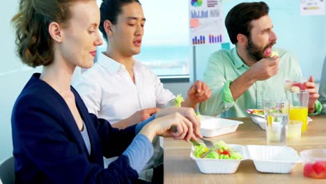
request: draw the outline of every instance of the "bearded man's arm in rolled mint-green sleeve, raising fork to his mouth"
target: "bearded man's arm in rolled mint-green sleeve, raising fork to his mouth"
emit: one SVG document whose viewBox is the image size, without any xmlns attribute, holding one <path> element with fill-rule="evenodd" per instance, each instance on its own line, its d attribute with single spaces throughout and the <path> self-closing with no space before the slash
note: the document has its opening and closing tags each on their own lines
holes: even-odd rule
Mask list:
<svg viewBox="0 0 326 184">
<path fill-rule="evenodd" d="M 201 114 L 217 116 L 233 107 L 235 101 L 256 81 L 269 79 L 279 70 L 279 58 L 262 59 L 254 63 L 247 71 L 234 80 L 226 79 L 230 66 L 224 66 L 222 58 L 212 54 L 204 75 L 204 80 L 212 90 L 212 96 L 201 102 Z"/>
</svg>

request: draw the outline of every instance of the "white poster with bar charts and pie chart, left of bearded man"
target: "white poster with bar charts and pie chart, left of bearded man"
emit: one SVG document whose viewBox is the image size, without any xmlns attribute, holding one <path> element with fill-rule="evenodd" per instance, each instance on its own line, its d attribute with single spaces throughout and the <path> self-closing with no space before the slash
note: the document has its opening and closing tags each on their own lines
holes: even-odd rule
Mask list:
<svg viewBox="0 0 326 184">
<path fill-rule="evenodd" d="M 189 0 L 190 43 L 192 45 L 223 42 L 222 0 Z"/>
</svg>

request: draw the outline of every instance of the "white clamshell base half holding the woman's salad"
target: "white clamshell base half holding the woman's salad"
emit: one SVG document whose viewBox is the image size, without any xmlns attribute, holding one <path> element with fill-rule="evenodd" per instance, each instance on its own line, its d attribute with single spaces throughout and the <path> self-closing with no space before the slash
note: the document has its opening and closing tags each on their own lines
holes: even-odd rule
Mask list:
<svg viewBox="0 0 326 184">
<path fill-rule="evenodd" d="M 238 144 L 228 144 L 234 151 L 238 151 L 243 158 L 239 160 L 231 159 L 212 159 L 212 158 L 196 158 L 193 154 L 194 146 L 192 146 L 192 151 L 190 151 L 190 158 L 192 158 L 199 170 L 204 174 L 233 174 L 237 171 L 239 164 L 242 160 L 247 159 L 244 147 Z"/>
</svg>

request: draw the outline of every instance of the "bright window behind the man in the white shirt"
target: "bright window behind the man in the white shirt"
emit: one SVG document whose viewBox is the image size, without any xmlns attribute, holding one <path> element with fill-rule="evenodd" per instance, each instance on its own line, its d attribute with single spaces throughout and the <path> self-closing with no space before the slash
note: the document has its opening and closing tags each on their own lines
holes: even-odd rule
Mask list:
<svg viewBox="0 0 326 184">
<path fill-rule="evenodd" d="M 102 1 L 97 0 L 100 6 Z M 186 0 L 140 1 L 146 17 L 141 53 L 135 59 L 156 75 L 189 77 L 189 18 Z M 106 43 L 99 50 L 106 49 Z"/>
</svg>

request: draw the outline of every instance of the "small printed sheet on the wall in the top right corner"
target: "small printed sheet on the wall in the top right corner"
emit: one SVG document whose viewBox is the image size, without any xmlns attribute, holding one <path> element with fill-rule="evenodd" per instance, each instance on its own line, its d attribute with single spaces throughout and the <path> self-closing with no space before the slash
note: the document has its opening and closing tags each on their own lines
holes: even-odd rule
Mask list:
<svg viewBox="0 0 326 184">
<path fill-rule="evenodd" d="M 326 0 L 300 0 L 301 15 L 325 15 Z"/>
</svg>

